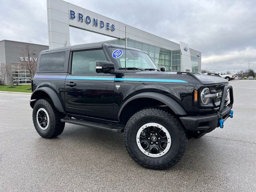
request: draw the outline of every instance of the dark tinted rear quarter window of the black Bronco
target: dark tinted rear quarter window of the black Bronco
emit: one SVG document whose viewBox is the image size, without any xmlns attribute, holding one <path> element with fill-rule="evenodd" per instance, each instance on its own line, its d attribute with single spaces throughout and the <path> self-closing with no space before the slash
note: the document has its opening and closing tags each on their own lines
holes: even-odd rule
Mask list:
<svg viewBox="0 0 256 192">
<path fill-rule="evenodd" d="M 64 69 L 65 52 L 43 54 L 39 71 L 62 71 Z"/>
</svg>

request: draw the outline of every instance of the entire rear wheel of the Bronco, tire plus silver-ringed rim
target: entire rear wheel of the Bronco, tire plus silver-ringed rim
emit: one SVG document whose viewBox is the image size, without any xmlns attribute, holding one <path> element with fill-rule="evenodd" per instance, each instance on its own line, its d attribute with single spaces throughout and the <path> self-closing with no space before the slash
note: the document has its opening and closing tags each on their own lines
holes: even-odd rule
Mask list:
<svg viewBox="0 0 256 192">
<path fill-rule="evenodd" d="M 36 131 L 44 138 L 56 137 L 64 130 L 65 123 L 60 121 L 63 114 L 56 110 L 49 98 L 36 101 L 32 116 Z"/>
</svg>

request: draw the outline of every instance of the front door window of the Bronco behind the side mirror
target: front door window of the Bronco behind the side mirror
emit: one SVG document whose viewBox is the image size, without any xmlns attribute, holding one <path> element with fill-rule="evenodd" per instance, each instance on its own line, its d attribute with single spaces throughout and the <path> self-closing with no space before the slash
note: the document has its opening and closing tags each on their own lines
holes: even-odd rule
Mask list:
<svg viewBox="0 0 256 192">
<path fill-rule="evenodd" d="M 71 74 L 97 74 L 95 70 L 97 60 L 107 60 L 102 49 L 73 52 Z"/>
</svg>

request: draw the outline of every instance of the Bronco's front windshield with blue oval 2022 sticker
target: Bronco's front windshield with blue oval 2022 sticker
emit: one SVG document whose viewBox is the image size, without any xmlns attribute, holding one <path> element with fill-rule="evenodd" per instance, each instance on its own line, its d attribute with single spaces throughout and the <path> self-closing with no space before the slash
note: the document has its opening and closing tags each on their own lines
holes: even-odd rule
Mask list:
<svg viewBox="0 0 256 192">
<path fill-rule="evenodd" d="M 125 67 L 125 56 L 126 56 L 126 68 L 141 68 L 141 69 L 158 69 L 151 58 L 144 52 L 113 48 L 110 47 L 110 52 L 119 68 Z"/>
</svg>

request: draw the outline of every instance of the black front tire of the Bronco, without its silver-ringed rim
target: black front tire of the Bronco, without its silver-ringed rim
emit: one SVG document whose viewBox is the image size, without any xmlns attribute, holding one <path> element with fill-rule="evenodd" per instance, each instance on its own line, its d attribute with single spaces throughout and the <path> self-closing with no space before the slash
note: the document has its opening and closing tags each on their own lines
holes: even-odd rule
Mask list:
<svg viewBox="0 0 256 192">
<path fill-rule="evenodd" d="M 148 122 L 162 124 L 170 133 L 172 144 L 164 156 L 150 157 L 144 154 L 136 143 L 136 134 Z M 176 164 L 186 151 L 187 136 L 183 126 L 170 113 L 158 108 L 145 108 L 136 112 L 124 129 L 124 144 L 131 158 L 140 166 L 163 170 Z"/>
</svg>

